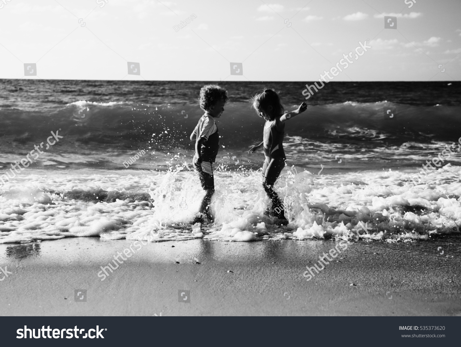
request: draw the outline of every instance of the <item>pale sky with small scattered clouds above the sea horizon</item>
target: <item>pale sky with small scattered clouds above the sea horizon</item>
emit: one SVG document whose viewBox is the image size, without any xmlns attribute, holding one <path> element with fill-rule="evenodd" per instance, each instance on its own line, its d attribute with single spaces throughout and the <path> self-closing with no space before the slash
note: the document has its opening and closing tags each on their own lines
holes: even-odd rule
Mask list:
<svg viewBox="0 0 461 347">
<path fill-rule="evenodd" d="M 0 0 L 0 78 L 314 81 L 351 52 L 332 81 L 459 81 L 460 13 L 459 0 Z"/>
</svg>

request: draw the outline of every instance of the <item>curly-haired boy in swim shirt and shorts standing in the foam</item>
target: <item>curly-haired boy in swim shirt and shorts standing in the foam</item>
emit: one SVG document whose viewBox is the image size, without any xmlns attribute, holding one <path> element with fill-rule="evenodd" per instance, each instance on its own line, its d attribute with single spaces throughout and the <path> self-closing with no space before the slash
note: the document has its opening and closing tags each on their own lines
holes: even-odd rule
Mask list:
<svg viewBox="0 0 461 347">
<path fill-rule="evenodd" d="M 208 84 L 200 89 L 200 108 L 205 111 L 205 114 L 190 135 L 190 141 L 195 141 L 195 156 L 192 164 L 199 174 L 201 186 L 206 194 L 193 223 L 203 223 L 205 217 L 210 222 L 214 222 L 210 211 L 211 198 L 214 194 L 212 165 L 219 151 L 219 133 L 215 118 L 221 117 L 227 100 L 227 91 L 217 85 Z"/>
</svg>

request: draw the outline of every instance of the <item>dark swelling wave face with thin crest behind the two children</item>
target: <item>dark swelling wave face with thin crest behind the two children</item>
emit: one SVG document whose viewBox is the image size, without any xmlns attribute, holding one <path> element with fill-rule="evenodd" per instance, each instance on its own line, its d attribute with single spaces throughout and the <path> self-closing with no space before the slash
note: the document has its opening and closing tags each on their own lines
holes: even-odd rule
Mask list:
<svg viewBox="0 0 461 347">
<path fill-rule="evenodd" d="M 386 117 L 393 109 L 395 117 Z M 307 111 L 286 124 L 286 133 L 305 138 L 331 138 L 349 135 L 362 140 L 398 139 L 404 141 L 454 140 L 461 134 L 458 117 L 461 106 L 408 106 L 388 103 L 346 102 L 308 106 Z M 142 138 L 170 130 L 181 134 L 194 128 L 203 111 L 198 105 L 148 105 L 126 102 L 89 102 L 79 100 L 46 112 L 17 109 L 1 112 L 4 134 L 17 138 L 43 136 L 56 127 L 68 135 L 98 141 L 94 134 Z M 237 135 L 239 141 L 260 133 L 261 119 L 249 104 L 228 103 L 218 121 L 224 135 Z M 178 133 L 178 135 L 179 135 Z M 4 136 L 5 136 L 4 135 Z M 239 138 L 240 137 L 240 138 Z M 259 137 L 259 136 L 258 136 Z M 14 139 L 13 139 L 14 141 Z"/>
</svg>

